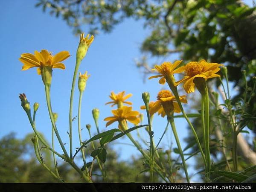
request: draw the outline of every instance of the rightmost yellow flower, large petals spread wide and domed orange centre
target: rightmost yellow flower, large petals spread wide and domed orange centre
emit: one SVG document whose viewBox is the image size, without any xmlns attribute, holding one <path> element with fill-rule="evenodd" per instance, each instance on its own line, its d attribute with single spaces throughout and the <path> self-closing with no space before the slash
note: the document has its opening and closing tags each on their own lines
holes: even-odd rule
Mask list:
<svg viewBox="0 0 256 192">
<path fill-rule="evenodd" d="M 219 70 L 221 70 L 219 67 L 223 66 L 223 64 L 218 63 L 207 63 L 205 60 L 201 60 L 199 62 L 192 61 L 186 64 L 185 66 L 179 67 L 174 71 L 174 73 L 181 73 L 185 71 L 186 76 L 184 76 L 183 79 L 180 81 L 177 81 L 175 83 L 175 86 L 185 81 L 183 87 L 187 93 L 192 93 L 195 91 L 195 83 L 193 80 L 196 77 L 204 78 L 205 80 L 219 77 L 218 74 L 216 74 Z"/>
</svg>

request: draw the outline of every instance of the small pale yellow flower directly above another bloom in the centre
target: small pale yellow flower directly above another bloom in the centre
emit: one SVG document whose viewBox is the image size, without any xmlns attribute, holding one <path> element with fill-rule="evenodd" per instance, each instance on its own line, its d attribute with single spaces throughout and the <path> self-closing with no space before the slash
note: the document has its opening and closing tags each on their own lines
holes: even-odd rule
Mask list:
<svg viewBox="0 0 256 192">
<path fill-rule="evenodd" d="M 119 107 L 122 107 L 123 103 L 125 104 L 128 104 L 128 105 L 132 105 L 132 102 L 128 102 L 128 101 L 125 101 L 126 99 L 130 98 L 132 96 L 131 93 L 127 94 L 125 96 L 125 91 L 122 91 L 122 92 L 119 92 L 117 94 L 115 94 L 113 91 L 111 92 L 110 94 L 110 99 L 112 99 L 113 101 L 111 102 L 107 102 L 105 103 L 105 105 L 108 105 L 108 104 L 112 104 L 111 107 L 113 107 L 114 105 L 118 105 L 118 108 Z"/>
</svg>

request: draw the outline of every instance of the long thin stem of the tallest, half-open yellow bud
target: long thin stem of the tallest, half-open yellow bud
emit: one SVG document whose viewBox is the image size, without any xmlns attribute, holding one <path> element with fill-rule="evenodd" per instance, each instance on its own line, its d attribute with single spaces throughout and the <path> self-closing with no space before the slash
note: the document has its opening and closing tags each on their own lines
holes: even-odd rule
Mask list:
<svg viewBox="0 0 256 192">
<path fill-rule="evenodd" d="M 72 87 L 71 87 L 71 93 L 70 93 L 70 111 L 69 111 L 69 126 L 70 126 L 70 131 L 69 131 L 69 137 L 70 137 L 70 158 L 73 157 L 73 146 L 72 146 L 72 111 L 73 111 L 73 97 L 74 97 L 74 90 L 75 90 L 75 84 L 76 84 L 76 76 L 78 73 L 78 69 L 80 66 L 81 60 L 76 59 L 76 66 L 74 70 L 74 75 L 73 75 L 73 81 L 72 81 Z"/>
</svg>

